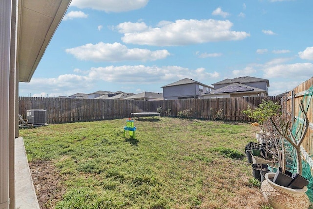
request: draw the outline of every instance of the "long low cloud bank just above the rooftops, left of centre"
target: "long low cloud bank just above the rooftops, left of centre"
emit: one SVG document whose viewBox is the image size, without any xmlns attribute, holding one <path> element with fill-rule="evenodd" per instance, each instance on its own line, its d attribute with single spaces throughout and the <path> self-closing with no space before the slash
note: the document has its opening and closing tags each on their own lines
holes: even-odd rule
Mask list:
<svg viewBox="0 0 313 209">
<path fill-rule="evenodd" d="M 75 72 L 82 73 L 82 70 L 74 69 Z M 29 83 L 19 83 L 20 93 L 42 94 L 49 97 L 70 96 L 75 93 L 90 93 L 99 83 L 120 84 L 120 88 L 126 89 L 132 85 L 140 84 L 144 89 L 145 85 L 152 83 L 172 83 L 183 78 L 193 78 L 201 80 L 218 78 L 218 72 L 209 72 L 204 68 L 195 70 L 180 66 L 144 66 L 144 65 L 124 65 L 106 66 L 91 68 L 83 72 L 84 76 L 75 74 L 60 75 L 57 78 L 33 78 Z M 130 85 L 131 84 L 131 85 Z M 160 87 L 160 86 L 159 86 Z M 43 92 L 45 95 L 43 95 Z M 142 91 L 140 91 L 142 92 Z"/>
</svg>

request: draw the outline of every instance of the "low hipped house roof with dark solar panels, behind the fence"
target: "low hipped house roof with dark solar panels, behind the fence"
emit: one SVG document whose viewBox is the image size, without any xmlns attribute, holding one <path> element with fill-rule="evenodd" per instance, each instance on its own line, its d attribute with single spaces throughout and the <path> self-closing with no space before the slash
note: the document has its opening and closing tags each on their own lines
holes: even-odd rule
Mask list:
<svg viewBox="0 0 313 209">
<path fill-rule="evenodd" d="M 211 95 L 211 94 L 224 94 L 224 93 L 243 93 L 243 92 L 266 92 L 266 90 L 264 89 L 259 89 L 259 88 L 255 88 L 255 87 L 251 87 L 245 84 L 241 84 L 241 83 L 232 83 L 229 84 L 227 86 L 224 86 L 222 88 L 213 90 L 211 92 L 208 93 L 204 93 L 203 95 Z"/>
</svg>

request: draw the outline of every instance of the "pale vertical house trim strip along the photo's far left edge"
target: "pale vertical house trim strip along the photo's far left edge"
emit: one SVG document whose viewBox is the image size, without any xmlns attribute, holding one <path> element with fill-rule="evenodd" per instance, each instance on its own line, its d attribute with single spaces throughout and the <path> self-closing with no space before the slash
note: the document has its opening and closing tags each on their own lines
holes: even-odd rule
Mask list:
<svg viewBox="0 0 313 209">
<path fill-rule="evenodd" d="M 9 199 L 9 76 L 12 0 L 0 1 L 0 209 Z"/>
</svg>

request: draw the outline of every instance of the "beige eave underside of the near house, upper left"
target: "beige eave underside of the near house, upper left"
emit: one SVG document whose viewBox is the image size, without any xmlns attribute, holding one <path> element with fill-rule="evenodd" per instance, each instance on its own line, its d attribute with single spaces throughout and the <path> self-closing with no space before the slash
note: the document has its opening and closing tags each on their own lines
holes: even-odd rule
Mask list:
<svg viewBox="0 0 313 209">
<path fill-rule="evenodd" d="M 71 0 L 18 1 L 19 81 L 30 81 L 70 2 Z"/>
</svg>

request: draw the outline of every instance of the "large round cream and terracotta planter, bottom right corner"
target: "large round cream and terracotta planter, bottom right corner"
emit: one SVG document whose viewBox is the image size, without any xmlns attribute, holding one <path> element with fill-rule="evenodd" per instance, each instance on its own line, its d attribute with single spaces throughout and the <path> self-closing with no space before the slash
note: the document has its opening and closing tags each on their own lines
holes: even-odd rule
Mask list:
<svg viewBox="0 0 313 209">
<path fill-rule="evenodd" d="M 261 190 L 268 203 L 275 209 L 307 209 L 310 200 L 306 195 L 308 188 L 291 189 L 273 182 L 275 173 L 265 174 Z"/>
</svg>

